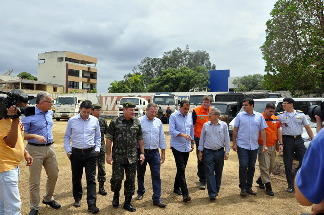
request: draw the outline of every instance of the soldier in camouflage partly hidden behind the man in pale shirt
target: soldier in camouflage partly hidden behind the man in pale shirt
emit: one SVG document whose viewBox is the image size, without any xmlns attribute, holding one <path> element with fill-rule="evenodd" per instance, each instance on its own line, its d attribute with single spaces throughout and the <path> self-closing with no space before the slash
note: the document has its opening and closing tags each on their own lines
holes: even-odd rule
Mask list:
<svg viewBox="0 0 324 215">
<path fill-rule="evenodd" d="M 99 121 L 100 133 L 101 133 L 101 147 L 100 152 L 97 157 L 98 162 L 98 182 L 99 182 L 99 194 L 105 196 L 107 192 L 105 191 L 103 185 L 106 181 L 106 169 L 105 169 L 105 159 L 106 159 L 106 143 L 105 135 L 108 133 L 107 121 L 104 118 L 99 117 L 101 114 L 101 106 L 99 104 L 92 105 L 91 114 L 96 117 Z"/>
</svg>

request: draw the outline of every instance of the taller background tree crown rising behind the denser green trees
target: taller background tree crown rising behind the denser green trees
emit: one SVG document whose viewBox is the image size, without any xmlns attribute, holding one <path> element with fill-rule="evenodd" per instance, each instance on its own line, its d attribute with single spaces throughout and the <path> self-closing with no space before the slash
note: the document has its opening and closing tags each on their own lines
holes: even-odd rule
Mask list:
<svg viewBox="0 0 324 215">
<path fill-rule="evenodd" d="M 209 54 L 206 51 L 190 52 L 189 45 L 187 45 L 185 50 L 178 47 L 175 50 L 165 52 L 161 58 L 146 57 L 132 71 L 136 75 L 141 74 L 143 76 L 142 81 L 147 86 L 153 78 L 161 76 L 163 70 L 188 67 L 196 71 L 198 66 L 204 66 L 207 70 L 216 69 L 215 64 L 212 65 L 209 61 Z M 128 80 L 131 76 L 131 73 L 124 75 L 124 80 Z"/>
</svg>

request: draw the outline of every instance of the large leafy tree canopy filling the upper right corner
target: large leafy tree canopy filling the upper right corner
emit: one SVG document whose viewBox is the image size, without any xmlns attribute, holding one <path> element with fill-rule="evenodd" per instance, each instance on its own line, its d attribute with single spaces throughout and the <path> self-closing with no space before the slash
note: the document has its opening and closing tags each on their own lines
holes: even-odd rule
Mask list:
<svg viewBox="0 0 324 215">
<path fill-rule="evenodd" d="M 260 47 L 266 61 L 265 86 L 321 93 L 324 66 L 323 0 L 279 0 L 267 21 Z M 298 95 L 297 95 L 298 96 Z"/>
</svg>

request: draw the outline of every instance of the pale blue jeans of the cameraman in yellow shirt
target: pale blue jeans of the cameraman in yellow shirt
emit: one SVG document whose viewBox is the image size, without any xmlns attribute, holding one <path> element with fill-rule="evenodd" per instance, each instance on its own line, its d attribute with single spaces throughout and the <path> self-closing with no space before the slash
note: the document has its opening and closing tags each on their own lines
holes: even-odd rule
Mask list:
<svg viewBox="0 0 324 215">
<path fill-rule="evenodd" d="M 21 214 L 18 181 L 18 166 L 12 170 L 0 173 L 0 214 Z"/>
</svg>

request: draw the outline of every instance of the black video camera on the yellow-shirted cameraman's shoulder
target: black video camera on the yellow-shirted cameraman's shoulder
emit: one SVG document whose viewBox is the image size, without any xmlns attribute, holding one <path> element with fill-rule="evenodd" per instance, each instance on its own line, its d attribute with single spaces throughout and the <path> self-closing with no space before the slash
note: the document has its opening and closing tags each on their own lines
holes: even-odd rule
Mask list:
<svg viewBox="0 0 324 215">
<path fill-rule="evenodd" d="M 8 117 L 7 108 L 10 108 L 13 105 L 17 106 L 17 104 L 20 104 L 20 102 L 28 103 L 28 100 L 31 100 L 35 97 L 6 91 L 0 91 L 0 93 L 7 94 L 7 97 L 0 97 L 0 120 L 3 118 L 18 118 L 19 116 L 21 116 L 21 114 L 25 116 L 35 115 L 35 107 L 17 107 L 17 114 Z"/>
</svg>

